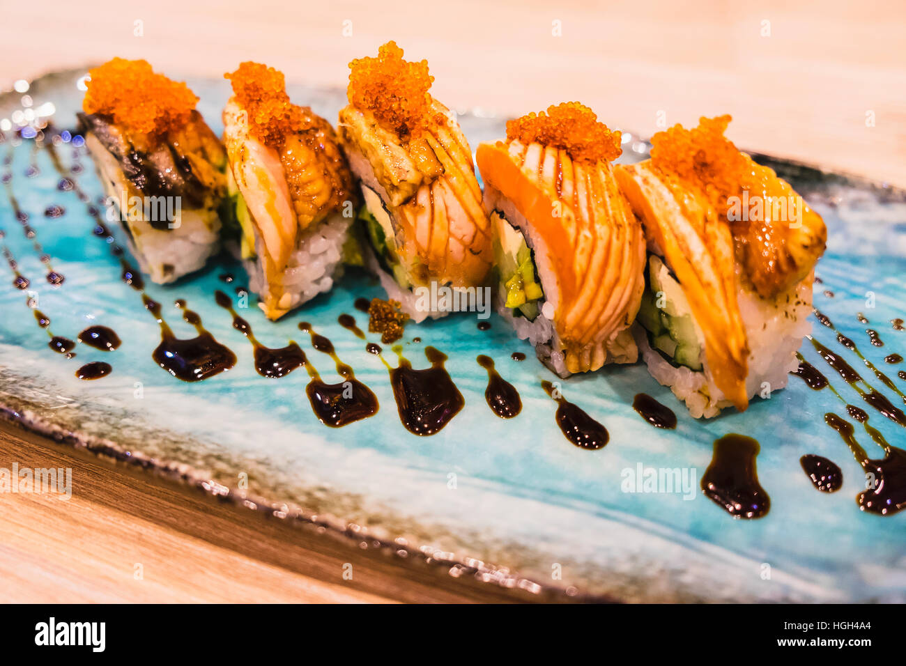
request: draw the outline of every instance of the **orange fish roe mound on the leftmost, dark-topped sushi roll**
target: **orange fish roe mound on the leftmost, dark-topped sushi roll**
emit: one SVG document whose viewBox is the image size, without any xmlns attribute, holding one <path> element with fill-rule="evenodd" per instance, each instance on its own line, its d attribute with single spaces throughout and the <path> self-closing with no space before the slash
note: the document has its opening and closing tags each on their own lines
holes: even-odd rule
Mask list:
<svg viewBox="0 0 906 666">
<path fill-rule="evenodd" d="M 188 85 L 155 73 L 144 60 L 113 58 L 88 75 L 82 110 L 111 116 L 114 124 L 137 134 L 180 129 L 198 102 Z"/>
</svg>

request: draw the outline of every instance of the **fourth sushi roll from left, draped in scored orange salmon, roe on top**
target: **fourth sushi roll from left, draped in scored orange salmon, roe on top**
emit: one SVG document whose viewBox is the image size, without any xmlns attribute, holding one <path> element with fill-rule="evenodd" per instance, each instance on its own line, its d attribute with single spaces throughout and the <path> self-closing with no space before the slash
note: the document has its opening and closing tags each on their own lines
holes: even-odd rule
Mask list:
<svg viewBox="0 0 906 666">
<path fill-rule="evenodd" d="M 477 150 L 498 310 L 562 377 L 638 359 L 645 241 L 614 178 L 620 137 L 569 102 L 507 122 L 506 141 Z"/>
</svg>

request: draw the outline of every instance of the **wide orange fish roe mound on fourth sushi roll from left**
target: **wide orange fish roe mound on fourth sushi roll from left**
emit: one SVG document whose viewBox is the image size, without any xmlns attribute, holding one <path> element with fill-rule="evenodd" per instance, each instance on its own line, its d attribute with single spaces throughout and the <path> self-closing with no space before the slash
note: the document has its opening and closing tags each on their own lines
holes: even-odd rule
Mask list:
<svg viewBox="0 0 906 666">
<path fill-rule="evenodd" d="M 621 132 L 598 121 L 594 111 L 578 101 L 550 106 L 506 123 L 506 139 L 565 150 L 576 161 L 612 161 L 622 154 Z"/>
</svg>

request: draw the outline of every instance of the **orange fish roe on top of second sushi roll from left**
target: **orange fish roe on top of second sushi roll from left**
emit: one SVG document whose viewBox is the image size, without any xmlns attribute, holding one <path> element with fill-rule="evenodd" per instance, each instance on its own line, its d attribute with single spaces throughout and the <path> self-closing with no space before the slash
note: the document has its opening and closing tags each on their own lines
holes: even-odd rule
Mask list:
<svg viewBox="0 0 906 666">
<path fill-rule="evenodd" d="M 233 84 L 236 101 L 248 113 L 252 135 L 266 146 L 280 148 L 288 134 L 310 128 L 311 119 L 302 107 L 289 101 L 283 72 L 246 62 L 224 78 Z"/>
</svg>

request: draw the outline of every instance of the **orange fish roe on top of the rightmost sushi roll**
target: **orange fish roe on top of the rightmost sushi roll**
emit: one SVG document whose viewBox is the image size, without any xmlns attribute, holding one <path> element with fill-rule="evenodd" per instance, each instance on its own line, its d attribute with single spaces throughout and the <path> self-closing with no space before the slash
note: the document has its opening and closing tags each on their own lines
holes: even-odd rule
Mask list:
<svg viewBox="0 0 906 666">
<path fill-rule="evenodd" d="M 732 141 L 724 137 L 729 115 L 700 118 L 699 126 L 686 130 L 674 125 L 651 138 L 651 163 L 661 171 L 705 191 L 717 204 L 747 188 L 747 162 Z M 755 186 L 755 183 L 749 185 Z"/>
</svg>

